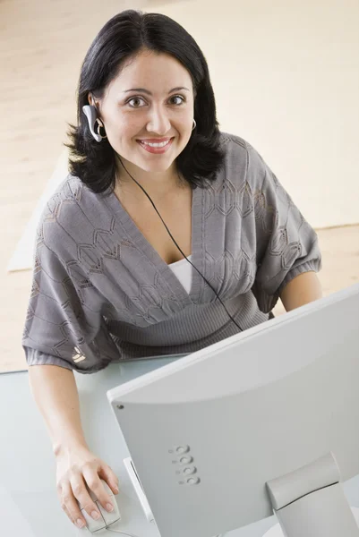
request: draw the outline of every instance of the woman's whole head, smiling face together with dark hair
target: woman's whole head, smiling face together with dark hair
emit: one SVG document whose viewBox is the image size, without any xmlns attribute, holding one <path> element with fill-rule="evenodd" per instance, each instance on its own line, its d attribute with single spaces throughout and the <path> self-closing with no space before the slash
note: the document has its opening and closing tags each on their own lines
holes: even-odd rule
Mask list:
<svg viewBox="0 0 359 537">
<path fill-rule="evenodd" d="M 90 124 L 83 107 L 93 107 Z M 179 179 L 201 186 L 223 164 L 204 55 L 180 24 L 159 13 L 129 10 L 99 31 L 81 67 L 78 125 L 70 127 L 71 172 L 93 192 L 118 188 L 120 176 L 128 181 L 124 166 L 158 191 L 160 184 L 178 187 Z M 98 144 L 91 129 L 106 142 Z M 165 149 L 150 149 L 161 142 Z"/>
</svg>

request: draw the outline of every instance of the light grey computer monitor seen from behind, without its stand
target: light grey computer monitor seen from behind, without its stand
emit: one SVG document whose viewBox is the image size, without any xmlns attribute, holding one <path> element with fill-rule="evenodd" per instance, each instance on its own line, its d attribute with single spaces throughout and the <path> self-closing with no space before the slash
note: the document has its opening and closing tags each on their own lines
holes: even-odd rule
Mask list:
<svg viewBox="0 0 359 537">
<path fill-rule="evenodd" d="M 330 453 L 342 481 L 359 473 L 359 285 L 107 398 L 163 537 L 211 537 L 272 516 L 266 483 L 280 476 Z"/>
</svg>

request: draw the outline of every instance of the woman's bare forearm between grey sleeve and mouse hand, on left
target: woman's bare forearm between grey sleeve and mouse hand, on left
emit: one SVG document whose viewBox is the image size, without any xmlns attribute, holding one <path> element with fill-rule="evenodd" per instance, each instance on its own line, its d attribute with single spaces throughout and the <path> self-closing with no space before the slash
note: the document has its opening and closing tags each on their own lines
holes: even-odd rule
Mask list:
<svg viewBox="0 0 359 537">
<path fill-rule="evenodd" d="M 72 446 L 87 447 L 73 371 L 56 365 L 31 365 L 29 382 L 32 395 L 47 424 L 55 455 Z"/>
</svg>

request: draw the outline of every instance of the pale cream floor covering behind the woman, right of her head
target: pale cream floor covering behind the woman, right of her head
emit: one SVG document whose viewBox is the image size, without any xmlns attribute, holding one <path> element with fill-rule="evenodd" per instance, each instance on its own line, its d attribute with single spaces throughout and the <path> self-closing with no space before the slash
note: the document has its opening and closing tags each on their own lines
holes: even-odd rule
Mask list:
<svg viewBox="0 0 359 537">
<path fill-rule="evenodd" d="M 206 55 L 221 129 L 260 151 L 312 225 L 358 223 L 359 2 L 197 0 L 157 11 Z"/>
</svg>

